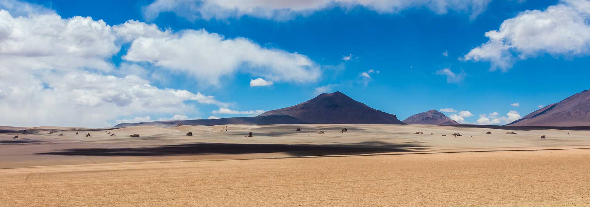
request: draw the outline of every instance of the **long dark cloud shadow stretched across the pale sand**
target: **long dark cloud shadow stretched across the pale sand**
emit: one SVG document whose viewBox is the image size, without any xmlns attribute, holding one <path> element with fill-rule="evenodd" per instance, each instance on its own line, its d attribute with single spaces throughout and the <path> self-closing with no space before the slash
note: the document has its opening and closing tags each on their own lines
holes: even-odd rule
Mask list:
<svg viewBox="0 0 590 207">
<path fill-rule="evenodd" d="M 350 144 L 230 144 L 230 143 L 187 143 L 156 147 L 101 148 L 101 149 L 60 149 L 37 155 L 83 155 L 83 156 L 172 156 L 172 155 L 215 155 L 284 152 L 293 156 L 359 155 L 383 152 L 412 152 L 425 150 L 417 142 L 391 144 L 382 142 Z"/>
</svg>

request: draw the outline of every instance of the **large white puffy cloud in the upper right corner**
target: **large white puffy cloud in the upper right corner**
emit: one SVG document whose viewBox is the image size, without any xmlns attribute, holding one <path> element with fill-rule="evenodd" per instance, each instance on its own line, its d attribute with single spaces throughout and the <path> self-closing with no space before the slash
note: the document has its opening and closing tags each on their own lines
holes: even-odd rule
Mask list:
<svg viewBox="0 0 590 207">
<path fill-rule="evenodd" d="M 590 1 L 561 0 L 545 10 L 527 10 L 506 19 L 500 29 L 460 60 L 489 61 L 491 70 L 508 70 L 517 60 L 542 54 L 576 57 L 590 53 Z"/>
</svg>

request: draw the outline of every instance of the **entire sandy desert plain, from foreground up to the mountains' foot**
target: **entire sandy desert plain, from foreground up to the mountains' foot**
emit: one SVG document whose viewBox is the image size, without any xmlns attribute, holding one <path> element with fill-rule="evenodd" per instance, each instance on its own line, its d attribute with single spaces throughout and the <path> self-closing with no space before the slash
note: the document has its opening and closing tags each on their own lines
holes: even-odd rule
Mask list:
<svg viewBox="0 0 590 207">
<path fill-rule="evenodd" d="M 0 127 L 0 206 L 590 206 L 590 127 Z"/>
</svg>

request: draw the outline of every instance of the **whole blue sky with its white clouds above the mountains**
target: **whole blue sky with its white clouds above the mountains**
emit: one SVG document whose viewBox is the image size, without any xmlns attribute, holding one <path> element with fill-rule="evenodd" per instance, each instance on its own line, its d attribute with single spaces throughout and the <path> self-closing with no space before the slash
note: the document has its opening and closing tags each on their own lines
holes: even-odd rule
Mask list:
<svg viewBox="0 0 590 207">
<path fill-rule="evenodd" d="M 461 123 L 506 124 L 539 106 L 556 103 L 588 89 L 588 81 L 582 78 L 590 75 L 590 35 L 585 32 L 590 31 L 590 12 L 584 7 L 590 5 L 588 1 L 466 0 L 456 5 L 442 5 L 442 8 L 434 5 L 434 1 L 416 1 L 418 3 L 409 5 L 382 1 L 357 4 L 344 0 L 315 1 L 317 5 L 281 5 L 282 1 L 277 1 L 272 8 L 262 3 L 244 6 L 232 5 L 232 1 L 222 2 L 230 2 L 231 9 L 224 7 L 228 5 L 188 0 L 168 1 L 166 5 L 143 0 L 0 1 L 0 8 L 11 15 L 0 19 L 0 23 L 15 18 L 34 22 L 40 20 L 31 18 L 33 15 L 57 14 L 64 22 L 76 16 L 91 17 L 93 22 L 102 19 L 104 27 L 113 31 L 117 25 L 132 19 L 137 21 L 136 25 L 153 24 L 162 33 L 155 37 L 142 31 L 144 33 L 134 33 L 127 40 L 115 32 L 104 37 L 85 36 L 84 40 L 111 38 L 106 42 L 114 46 L 94 50 L 92 47 L 105 44 L 72 46 L 80 41 L 57 41 L 53 48 L 65 44 L 70 46 L 67 48 L 81 48 L 80 53 L 103 49 L 104 52 L 63 54 L 50 49 L 41 51 L 41 48 L 31 55 L 23 49 L 26 47 L 22 42 L 27 42 L 27 38 L 34 42 L 35 38 L 55 34 L 23 35 L 20 39 L 25 41 L 21 42 L 11 39 L 16 37 L 15 33 L 9 33 L 11 35 L 3 40 L 0 32 L 0 45 L 4 41 L 5 48 L 8 48 L 6 45 L 14 47 L 14 51 L 0 50 L 5 60 L 0 61 L 0 71 L 4 68 L 6 72 L 0 75 L 6 83 L 0 84 L 0 100 L 5 102 L 0 106 L 6 114 L 14 114 L 6 116 L 0 125 L 104 127 L 120 121 L 254 116 L 260 111 L 293 106 L 320 92 L 333 91 L 342 91 L 375 109 L 396 114 L 400 120 L 431 109 L 452 108 L 454 111 L 444 113 Z M 211 4 L 214 4 L 212 9 L 204 6 Z M 18 9 L 14 5 L 27 5 L 31 9 Z M 564 9 L 573 9 L 572 12 L 565 10 L 572 17 L 560 15 L 559 11 Z M 503 22 L 504 30 L 501 30 Z M 16 24 L 12 27 L 17 28 Z M 562 25 L 563 28 L 542 24 Z M 14 28 L 8 31 L 14 32 Z M 120 28 L 118 31 L 123 31 L 120 33 L 130 31 Z M 499 31 L 494 36 L 500 37 L 499 41 L 485 35 L 494 30 Z M 193 34 L 194 38 L 189 39 L 188 34 Z M 213 39 L 196 39 L 203 36 Z M 242 41 L 207 43 L 215 38 Z M 153 42 L 158 40 L 165 43 L 155 45 Z M 23 45 L 18 45 L 19 42 Z M 242 46 L 253 52 L 237 51 Z M 218 49 L 223 47 L 228 48 Z M 484 50 L 474 50 L 478 47 Z M 237 52 L 234 54 L 234 51 Z M 30 65 L 13 66 L 8 58 L 16 60 L 15 55 L 48 66 L 37 68 L 35 65 L 34 69 Z M 44 59 L 47 57 L 61 61 L 59 64 L 48 62 Z M 110 66 L 102 68 L 89 64 L 90 61 L 84 59 L 88 57 Z M 235 64 L 225 64 L 234 61 Z M 300 61 L 304 61 L 303 66 L 296 65 Z M 7 83 L 17 69 L 30 71 L 34 78 L 22 81 L 37 81 L 42 89 L 27 89 L 31 90 L 28 95 L 17 97 L 16 91 L 27 91 Z M 104 79 L 102 83 L 112 81 L 113 86 L 94 88 L 78 86 L 74 84 L 76 81 L 72 84 L 67 80 L 55 81 L 55 77 L 63 75 L 84 77 L 89 83 Z M 136 82 L 125 77 L 137 77 L 133 79 Z M 250 86 L 251 80 L 257 78 L 273 84 Z M 116 84 L 119 81 L 122 82 L 120 86 Z M 145 83 L 151 86 L 153 94 L 142 95 L 141 88 L 130 91 L 146 87 L 142 85 Z M 176 92 L 173 98 L 158 95 L 165 93 L 166 88 L 188 91 L 190 95 L 181 96 Z M 68 91 L 75 93 L 68 95 Z M 192 98 L 198 94 L 205 98 Z M 11 100 L 20 101 L 8 101 L 12 96 Z M 32 96 L 63 96 L 58 99 L 64 103 L 57 100 L 45 103 L 45 98 L 39 100 L 42 104 L 38 106 L 28 103 L 27 100 L 34 99 Z M 47 106 L 47 111 L 40 111 L 43 106 Z M 51 115 L 53 111 L 76 114 L 76 117 L 55 120 Z M 23 117 L 23 114 L 39 119 Z"/>
</svg>

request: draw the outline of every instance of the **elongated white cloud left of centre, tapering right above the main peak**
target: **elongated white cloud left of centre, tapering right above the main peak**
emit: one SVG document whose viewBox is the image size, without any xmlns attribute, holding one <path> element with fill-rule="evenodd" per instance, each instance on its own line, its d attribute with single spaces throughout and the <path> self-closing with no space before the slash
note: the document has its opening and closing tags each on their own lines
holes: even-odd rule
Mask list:
<svg viewBox="0 0 590 207">
<path fill-rule="evenodd" d="M 319 65 L 306 55 L 264 48 L 242 37 L 225 38 L 205 29 L 185 29 L 177 33 L 160 31 L 159 35 L 149 36 L 133 40 L 123 59 L 187 73 L 214 85 L 222 77 L 238 71 L 265 80 L 296 83 L 314 82 L 320 75 Z"/>
</svg>

